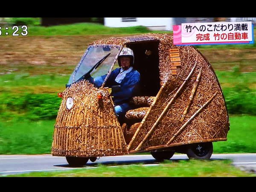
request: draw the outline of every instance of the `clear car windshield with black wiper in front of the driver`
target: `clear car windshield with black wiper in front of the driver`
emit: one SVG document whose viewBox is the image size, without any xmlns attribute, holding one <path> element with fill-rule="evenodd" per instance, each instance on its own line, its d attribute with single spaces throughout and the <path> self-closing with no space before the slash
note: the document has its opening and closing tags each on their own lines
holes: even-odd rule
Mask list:
<svg viewBox="0 0 256 192">
<path fill-rule="evenodd" d="M 121 46 L 115 45 L 89 46 L 71 74 L 68 85 L 89 74 L 93 78 L 107 74 L 116 62 L 120 49 Z"/>
</svg>

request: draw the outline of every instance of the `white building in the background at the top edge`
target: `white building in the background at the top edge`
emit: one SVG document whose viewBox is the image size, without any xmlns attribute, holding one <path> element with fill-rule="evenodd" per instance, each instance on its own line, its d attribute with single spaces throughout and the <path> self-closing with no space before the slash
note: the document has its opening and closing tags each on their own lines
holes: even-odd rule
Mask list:
<svg viewBox="0 0 256 192">
<path fill-rule="evenodd" d="M 172 31 L 172 17 L 104 17 L 108 27 L 146 26 L 149 30 Z"/>
</svg>

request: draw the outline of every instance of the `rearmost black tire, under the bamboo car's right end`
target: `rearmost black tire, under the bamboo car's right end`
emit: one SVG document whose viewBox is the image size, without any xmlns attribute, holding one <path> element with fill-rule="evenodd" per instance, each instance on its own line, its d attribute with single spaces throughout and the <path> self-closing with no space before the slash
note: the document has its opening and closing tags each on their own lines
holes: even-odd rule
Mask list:
<svg viewBox="0 0 256 192">
<path fill-rule="evenodd" d="M 209 159 L 212 156 L 213 146 L 209 143 L 194 143 L 189 145 L 187 149 L 187 156 L 189 159 Z"/>
</svg>

